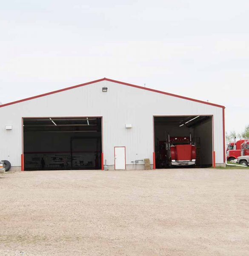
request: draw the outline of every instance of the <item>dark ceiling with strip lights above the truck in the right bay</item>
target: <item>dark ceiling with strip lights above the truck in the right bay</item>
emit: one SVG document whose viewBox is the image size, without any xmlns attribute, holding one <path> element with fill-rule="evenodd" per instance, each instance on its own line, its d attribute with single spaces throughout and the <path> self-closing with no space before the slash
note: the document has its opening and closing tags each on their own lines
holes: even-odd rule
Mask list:
<svg viewBox="0 0 249 256">
<path fill-rule="evenodd" d="M 155 125 L 186 125 L 190 128 L 209 119 L 210 116 L 155 116 Z M 187 122 L 187 123 L 186 123 Z"/>
</svg>

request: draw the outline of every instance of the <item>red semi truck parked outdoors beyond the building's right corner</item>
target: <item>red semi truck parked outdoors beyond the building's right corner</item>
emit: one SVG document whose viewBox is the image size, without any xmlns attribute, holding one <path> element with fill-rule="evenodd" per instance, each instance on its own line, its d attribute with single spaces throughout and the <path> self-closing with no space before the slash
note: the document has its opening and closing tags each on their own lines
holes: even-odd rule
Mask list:
<svg viewBox="0 0 249 256">
<path fill-rule="evenodd" d="M 229 143 L 226 149 L 226 160 L 232 161 L 240 156 L 249 155 L 249 140 L 238 140 L 236 143 Z"/>
</svg>

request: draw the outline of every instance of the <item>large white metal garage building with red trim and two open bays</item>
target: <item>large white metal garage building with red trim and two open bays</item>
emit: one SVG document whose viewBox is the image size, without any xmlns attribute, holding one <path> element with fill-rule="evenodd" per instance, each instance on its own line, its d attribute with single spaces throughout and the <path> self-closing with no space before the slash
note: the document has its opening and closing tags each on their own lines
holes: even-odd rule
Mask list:
<svg viewBox="0 0 249 256">
<path fill-rule="evenodd" d="M 161 143 L 189 133 L 197 166 L 225 164 L 223 106 L 111 79 L 0 105 L 0 117 L 11 170 L 162 168 Z"/>
</svg>

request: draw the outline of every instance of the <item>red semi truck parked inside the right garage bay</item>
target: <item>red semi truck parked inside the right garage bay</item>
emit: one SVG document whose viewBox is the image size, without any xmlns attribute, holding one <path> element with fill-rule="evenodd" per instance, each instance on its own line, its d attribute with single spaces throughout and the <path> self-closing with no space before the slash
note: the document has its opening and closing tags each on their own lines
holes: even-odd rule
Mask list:
<svg viewBox="0 0 249 256">
<path fill-rule="evenodd" d="M 195 166 L 196 147 L 189 137 L 170 137 L 158 141 L 158 167 Z"/>
</svg>

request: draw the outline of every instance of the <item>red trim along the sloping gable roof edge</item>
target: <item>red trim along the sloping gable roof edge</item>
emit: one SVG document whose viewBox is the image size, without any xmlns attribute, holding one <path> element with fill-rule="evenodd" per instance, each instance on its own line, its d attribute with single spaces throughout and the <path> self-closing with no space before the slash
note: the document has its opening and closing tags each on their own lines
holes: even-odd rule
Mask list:
<svg viewBox="0 0 249 256">
<path fill-rule="evenodd" d="M 149 91 L 152 91 L 152 92 L 155 92 L 155 93 L 166 94 L 166 95 L 177 97 L 177 98 L 180 98 L 180 99 L 187 99 L 187 100 L 191 100 L 191 101 L 194 101 L 194 102 L 203 103 L 203 104 L 206 104 L 206 105 L 212 105 L 212 106 L 219 107 L 219 108 L 225 108 L 222 105 L 217 105 L 217 104 L 213 104 L 213 103 L 210 103 L 210 102 L 204 102 L 204 101 L 201 101 L 201 100 L 192 99 L 192 98 L 188 98 L 188 97 L 184 97 L 184 96 L 179 96 L 179 95 L 172 94 L 172 93 L 166 93 L 166 92 L 163 92 L 163 91 L 160 91 L 160 90 L 154 90 L 154 89 L 150 89 L 150 88 L 146 88 L 146 87 L 142 87 L 142 86 L 138 86 L 138 85 L 134 85 L 134 84 L 128 84 L 128 83 L 124 83 L 124 82 L 120 82 L 120 81 L 116 81 L 116 80 L 112 80 L 112 79 L 108 79 L 108 78 L 102 78 L 102 79 L 91 81 L 91 82 L 88 82 L 88 83 L 85 83 L 85 84 L 78 84 L 78 85 L 74 85 L 74 86 L 67 87 L 67 88 L 64 88 L 64 89 L 55 90 L 55 91 L 52 91 L 50 93 L 43 93 L 43 94 L 33 96 L 33 97 L 29 97 L 29 98 L 26 98 L 26 99 L 20 99 L 20 100 L 14 101 L 14 102 L 9 102 L 9 103 L 0 105 L 0 108 L 5 107 L 5 106 L 9 106 L 9 105 L 13 105 L 13 104 L 16 104 L 16 103 L 19 103 L 19 102 L 24 102 L 24 101 L 27 101 L 27 100 L 30 100 L 30 99 L 36 99 L 36 98 L 40 98 L 40 97 L 47 96 L 47 95 L 50 95 L 50 94 L 60 93 L 60 92 L 66 91 L 66 90 L 71 90 L 71 89 L 81 87 L 81 86 L 84 86 L 84 85 L 94 84 L 94 83 L 97 83 L 97 82 L 100 82 L 100 81 L 110 81 L 110 82 L 114 82 L 114 83 L 117 83 L 117 84 L 124 84 L 124 85 L 132 86 L 132 87 L 135 87 L 135 88 L 143 89 L 143 90 L 149 90 Z"/>
</svg>

